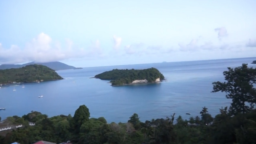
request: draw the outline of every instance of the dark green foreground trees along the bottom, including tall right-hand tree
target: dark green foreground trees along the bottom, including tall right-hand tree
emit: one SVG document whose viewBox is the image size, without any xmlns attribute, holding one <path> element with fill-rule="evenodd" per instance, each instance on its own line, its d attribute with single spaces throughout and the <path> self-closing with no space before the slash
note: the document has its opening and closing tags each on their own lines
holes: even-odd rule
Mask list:
<svg viewBox="0 0 256 144">
<path fill-rule="evenodd" d="M 232 99 L 230 107 L 220 108 L 214 118 L 206 107 L 201 116 L 183 120 L 173 114 L 165 119 L 145 122 L 133 114 L 127 123 L 107 123 L 103 117 L 90 118 L 85 105 L 74 116 L 53 116 L 31 112 L 22 117 L 8 117 L 6 122 L 26 125 L 9 133 L 0 132 L 1 144 L 17 141 L 30 144 L 38 140 L 75 144 L 254 144 L 256 143 L 256 69 L 228 68 L 223 72 L 226 82 L 214 82 L 213 93 L 226 92 Z M 36 126 L 28 126 L 28 121 Z M 193 125 L 191 125 L 193 124 Z"/>
</svg>

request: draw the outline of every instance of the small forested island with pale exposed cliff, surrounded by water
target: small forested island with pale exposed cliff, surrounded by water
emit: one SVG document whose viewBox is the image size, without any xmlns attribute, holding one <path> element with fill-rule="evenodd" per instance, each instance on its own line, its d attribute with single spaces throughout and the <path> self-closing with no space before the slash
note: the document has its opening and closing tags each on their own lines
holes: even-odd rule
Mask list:
<svg viewBox="0 0 256 144">
<path fill-rule="evenodd" d="M 156 68 L 144 70 L 119 70 L 103 72 L 94 76 L 101 80 L 111 80 L 112 86 L 127 85 L 134 83 L 155 83 L 164 80 L 164 76 Z"/>
</svg>

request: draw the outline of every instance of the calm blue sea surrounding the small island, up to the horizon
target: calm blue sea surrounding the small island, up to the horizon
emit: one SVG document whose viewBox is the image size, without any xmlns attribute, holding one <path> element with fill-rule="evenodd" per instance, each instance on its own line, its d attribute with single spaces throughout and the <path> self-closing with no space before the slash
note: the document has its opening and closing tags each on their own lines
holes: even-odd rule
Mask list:
<svg viewBox="0 0 256 144">
<path fill-rule="evenodd" d="M 137 113 L 142 121 L 165 118 L 173 113 L 187 119 L 199 116 L 202 107 L 215 116 L 231 100 L 224 93 L 210 93 L 212 82 L 223 81 L 227 67 L 251 63 L 256 58 L 167 62 L 122 66 L 91 67 L 57 71 L 64 80 L 30 83 L 22 88 L 0 88 L 0 116 L 22 116 L 39 111 L 48 116 L 74 115 L 79 105 L 86 105 L 91 117 L 105 117 L 108 122 L 126 122 Z M 249 64 L 253 66 L 253 64 Z M 112 69 L 157 68 L 167 82 L 112 87 L 109 81 L 90 79 Z M 13 91 L 13 89 L 16 91 Z M 43 95 L 43 98 L 38 96 Z M 191 113 L 191 115 L 186 115 Z"/>
</svg>

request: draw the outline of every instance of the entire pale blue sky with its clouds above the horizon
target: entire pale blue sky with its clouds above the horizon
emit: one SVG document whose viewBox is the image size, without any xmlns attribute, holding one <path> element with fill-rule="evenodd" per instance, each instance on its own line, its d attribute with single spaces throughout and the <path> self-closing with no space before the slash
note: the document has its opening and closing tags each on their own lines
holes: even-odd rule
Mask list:
<svg viewBox="0 0 256 144">
<path fill-rule="evenodd" d="M 2 0 L 0 64 L 256 56 L 255 0 Z"/>
</svg>

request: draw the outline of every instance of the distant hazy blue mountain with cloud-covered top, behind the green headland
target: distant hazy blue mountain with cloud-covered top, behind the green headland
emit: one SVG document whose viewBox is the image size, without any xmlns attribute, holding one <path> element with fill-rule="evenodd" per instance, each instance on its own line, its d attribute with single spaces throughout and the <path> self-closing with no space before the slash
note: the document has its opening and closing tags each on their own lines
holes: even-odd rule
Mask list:
<svg viewBox="0 0 256 144">
<path fill-rule="evenodd" d="M 52 70 L 58 71 L 58 70 L 68 70 L 68 69 L 75 69 L 76 67 L 67 65 L 65 63 L 59 62 L 59 61 L 54 61 L 54 62 L 29 62 L 25 64 L 2 64 L 0 65 L 0 70 L 5 70 L 5 69 L 11 69 L 11 68 L 21 68 L 30 64 L 39 64 L 39 65 L 44 65 L 49 67 Z"/>
</svg>

